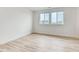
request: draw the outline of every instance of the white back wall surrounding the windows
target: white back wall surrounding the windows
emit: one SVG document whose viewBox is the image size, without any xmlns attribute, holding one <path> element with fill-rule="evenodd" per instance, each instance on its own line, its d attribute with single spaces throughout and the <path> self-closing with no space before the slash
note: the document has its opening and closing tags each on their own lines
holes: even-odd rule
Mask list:
<svg viewBox="0 0 79 59">
<path fill-rule="evenodd" d="M 53 34 L 53 35 L 63 35 L 63 36 L 78 36 L 76 35 L 77 33 L 79 34 L 79 23 L 77 24 L 79 20 L 76 21 L 77 8 L 53 8 L 52 10 L 64 11 L 64 22 L 65 22 L 64 25 L 40 25 L 39 18 L 38 18 L 39 17 L 38 15 L 40 12 L 36 11 L 34 12 L 33 32 Z"/>
</svg>

